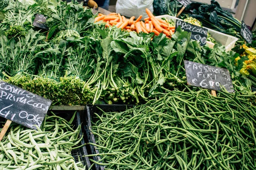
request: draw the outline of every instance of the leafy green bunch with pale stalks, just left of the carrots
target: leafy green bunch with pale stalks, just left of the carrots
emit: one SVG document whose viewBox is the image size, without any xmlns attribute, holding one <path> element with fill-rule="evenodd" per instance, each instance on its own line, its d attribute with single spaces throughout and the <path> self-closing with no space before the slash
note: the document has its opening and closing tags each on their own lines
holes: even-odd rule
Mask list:
<svg viewBox="0 0 256 170">
<path fill-rule="evenodd" d="M 80 38 L 94 22 L 90 9 L 77 2 L 59 2 L 56 12 L 47 20 L 50 31 L 48 39 L 58 43 L 68 37 Z"/>
</svg>

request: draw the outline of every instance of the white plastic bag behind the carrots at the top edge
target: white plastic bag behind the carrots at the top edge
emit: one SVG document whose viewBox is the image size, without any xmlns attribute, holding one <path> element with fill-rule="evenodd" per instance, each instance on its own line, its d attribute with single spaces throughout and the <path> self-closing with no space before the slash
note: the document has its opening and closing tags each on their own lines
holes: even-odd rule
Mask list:
<svg viewBox="0 0 256 170">
<path fill-rule="evenodd" d="M 138 18 L 142 15 L 142 18 L 148 17 L 145 9 L 148 8 L 152 13 L 154 0 L 117 0 L 116 13 L 120 13 L 125 17 Z"/>
</svg>

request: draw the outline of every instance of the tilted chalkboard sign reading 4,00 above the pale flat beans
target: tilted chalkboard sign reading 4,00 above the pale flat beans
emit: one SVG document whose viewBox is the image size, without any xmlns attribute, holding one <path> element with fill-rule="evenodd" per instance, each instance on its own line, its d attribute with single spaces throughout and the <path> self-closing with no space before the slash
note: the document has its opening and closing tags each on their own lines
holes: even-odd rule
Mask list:
<svg viewBox="0 0 256 170">
<path fill-rule="evenodd" d="M 52 101 L 0 81 L 0 116 L 36 129 L 41 126 Z"/>
</svg>

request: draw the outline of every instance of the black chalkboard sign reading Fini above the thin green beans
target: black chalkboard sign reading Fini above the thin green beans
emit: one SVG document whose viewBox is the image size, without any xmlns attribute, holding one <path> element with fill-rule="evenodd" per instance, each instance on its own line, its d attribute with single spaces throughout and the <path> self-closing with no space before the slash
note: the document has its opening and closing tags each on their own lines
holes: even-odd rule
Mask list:
<svg viewBox="0 0 256 170">
<path fill-rule="evenodd" d="M 188 85 L 215 91 L 225 88 L 228 92 L 233 92 L 232 80 L 227 69 L 186 60 L 184 65 Z"/>
</svg>

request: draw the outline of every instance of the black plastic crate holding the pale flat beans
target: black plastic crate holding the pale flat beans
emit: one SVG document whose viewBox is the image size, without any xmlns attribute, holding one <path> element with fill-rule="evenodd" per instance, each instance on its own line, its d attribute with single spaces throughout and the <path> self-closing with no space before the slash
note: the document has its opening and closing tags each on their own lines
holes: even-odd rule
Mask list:
<svg viewBox="0 0 256 170">
<path fill-rule="evenodd" d="M 60 111 L 52 111 L 56 116 L 60 116 L 66 120 L 70 120 L 71 119 L 71 116 L 73 116 L 73 113 L 75 111 L 63 111 L 63 110 L 60 110 Z M 6 122 L 6 119 L 4 119 L 3 117 L 0 117 L 0 127 L 3 127 L 3 125 L 5 124 Z M 11 126 L 12 125 L 15 125 L 16 123 L 15 122 L 12 122 Z M 77 128 L 79 125 L 81 125 L 81 121 L 80 121 L 80 112 L 77 111 L 76 112 L 76 117 L 73 121 L 73 126 L 74 128 Z M 8 131 L 7 131 L 8 133 Z M 81 138 L 83 136 L 83 133 L 82 133 L 82 130 L 80 131 L 79 133 L 79 137 Z M 81 140 L 81 142 L 79 143 L 79 145 L 83 145 L 84 144 L 84 139 Z M 87 154 L 87 149 L 86 147 L 80 147 L 78 149 L 75 149 L 75 150 L 71 150 L 71 154 L 74 158 L 74 160 L 76 162 L 79 162 L 82 161 L 84 166 L 86 166 L 86 170 L 88 170 L 88 168 L 91 166 L 90 164 L 90 160 L 88 157 L 84 157 L 84 155 L 88 155 Z"/>
</svg>

